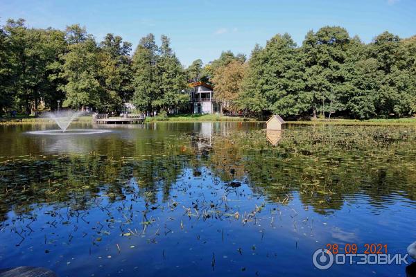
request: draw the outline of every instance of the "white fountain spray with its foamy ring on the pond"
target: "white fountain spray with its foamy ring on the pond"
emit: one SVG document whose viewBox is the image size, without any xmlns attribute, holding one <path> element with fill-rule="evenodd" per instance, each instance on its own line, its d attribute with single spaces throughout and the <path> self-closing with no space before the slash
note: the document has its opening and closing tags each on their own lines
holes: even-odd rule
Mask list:
<svg viewBox="0 0 416 277">
<path fill-rule="evenodd" d="M 46 134 L 46 135 L 75 135 L 75 134 L 103 134 L 111 132 L 107 129 L 68 129 L 69 125 L 82 116 L 84 111 L 73 111 L 66 109 L 63 111 L 54 111 L 46 113 L 46 117 L 51 118 L 60 127 L 60 129 L 51 129 L 44 131 L 32 131 L 29 134 Z"/>
</svg>

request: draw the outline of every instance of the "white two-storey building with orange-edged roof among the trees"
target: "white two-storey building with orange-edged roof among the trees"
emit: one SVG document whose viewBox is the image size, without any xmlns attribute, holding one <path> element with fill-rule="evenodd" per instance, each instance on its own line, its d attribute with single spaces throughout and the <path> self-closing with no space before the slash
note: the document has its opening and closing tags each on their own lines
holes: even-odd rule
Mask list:
<svg viewBox="0 0 416 277">
<path fill-rule="evenodd" d="M 214 89 L 205 82 L 192 82 L 191 87 L 191 111 L 193 114 L 218 114 L 220 105 L 215 101 Z"/>
</svg>

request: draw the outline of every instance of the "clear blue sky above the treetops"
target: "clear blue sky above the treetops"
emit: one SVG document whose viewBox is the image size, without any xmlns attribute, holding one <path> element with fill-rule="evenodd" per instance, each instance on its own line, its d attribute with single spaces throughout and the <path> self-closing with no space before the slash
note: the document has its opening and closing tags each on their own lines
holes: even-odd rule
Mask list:
<svg viewBox="0 0 416 277">
<path fill-rule="evenodd" d="M 300 45 L 308 30 L 326 25 L 343 26 L 364 42 L 384 30 L 416 35 L 416 0 L 0 0 L 1 24 L 19 17 L 36 28 L 79 23 L 98 41 L 114 33 L 134 48 L 147 33 L 165 34 L 184 65 L 226 50 L 250 55 L 254 44 L 277 33 Z"/>
</svg>

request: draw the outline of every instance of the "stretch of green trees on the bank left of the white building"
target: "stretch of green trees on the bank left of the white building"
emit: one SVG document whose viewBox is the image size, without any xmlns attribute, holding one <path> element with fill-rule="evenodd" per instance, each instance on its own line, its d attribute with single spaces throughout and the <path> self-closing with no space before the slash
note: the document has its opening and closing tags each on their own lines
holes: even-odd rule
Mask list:
<svg viewBox="0 0 416 277">
<path fill-rule="evenodd" d="M 122 111 L 125 102 L 140 111 L 182 107 L 189 102 L 185 70 L 168 37 L 161 41 L 149 34 L 132 54 L 130 42 L 110 33 L 96 42 L 78 24 L 28 28 L 24 19 L 9 19 L 0 26 L 0 116 L 61 107 Z"/>
</svg>

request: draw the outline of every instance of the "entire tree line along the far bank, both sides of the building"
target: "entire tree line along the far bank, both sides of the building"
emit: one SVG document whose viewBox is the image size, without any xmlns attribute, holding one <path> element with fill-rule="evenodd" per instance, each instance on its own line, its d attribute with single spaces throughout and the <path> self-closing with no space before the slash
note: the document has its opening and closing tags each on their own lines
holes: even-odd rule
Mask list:
<svg viewBox="0 0 416 277">
<path fill-rule="evenodd" d="M 146 35 L 132 51 L 122 37 L 102 42 L 78 24 L 65 30 L 29 28 L 24 19 L 0 26 L 0 116 L 17 110 L 71 107 L 121 111 L 189 109 L 189 82 L 207 82 L 227 111 L 263 116 L 410 116 L 416 112 L 416 37 L 385 32 L 369 44 L 341 27 L 257 44 L 247 59 L 224 51 L 187 69 L 168 37 Z"/>
</svg>

